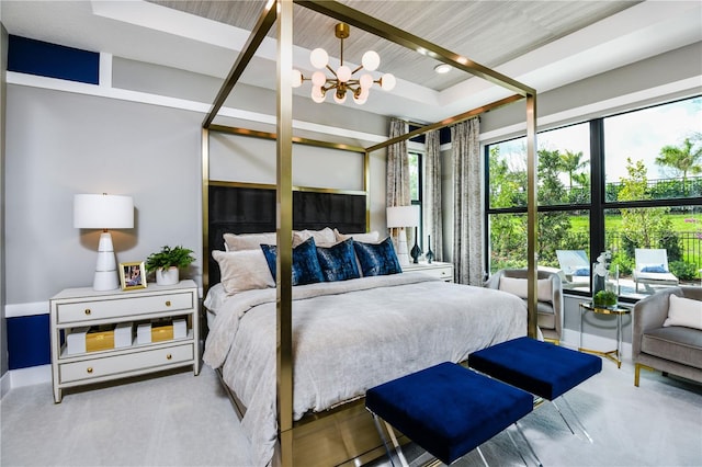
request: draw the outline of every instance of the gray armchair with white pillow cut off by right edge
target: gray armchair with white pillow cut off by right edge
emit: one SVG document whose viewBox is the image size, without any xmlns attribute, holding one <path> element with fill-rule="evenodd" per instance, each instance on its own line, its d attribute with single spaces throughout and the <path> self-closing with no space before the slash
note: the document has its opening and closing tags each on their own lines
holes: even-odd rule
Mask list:
<svg viewBox="0 0 702 467">
<path fill-rule="evenodd" d="M 634 306 L 632 360 L 634 385 L 642 367 L 702 383 L 702 330 L 682 326 L 663 327 L 668 317 L 670 295 L 700 300 L 702 287 L 680 286 L 658 291 Z"/>
</svg>

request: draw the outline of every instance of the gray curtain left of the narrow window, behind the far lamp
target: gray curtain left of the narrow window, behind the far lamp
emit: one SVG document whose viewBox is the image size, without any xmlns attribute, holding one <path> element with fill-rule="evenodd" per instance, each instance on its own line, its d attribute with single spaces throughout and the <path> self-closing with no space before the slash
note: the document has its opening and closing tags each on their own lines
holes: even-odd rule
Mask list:
<svg viewBox="0 0 702 467">
<path fill-rule="evenodd" d="M 409 124 L 398 118 L 390 118 L 389 137 L 405 135 L 409 133 Z M 387 207 L 409 206 L 411 203 L 409 191 L 409 155 L 407 152 L 407 140 L 396 143 L 387 148 L 387 183 L 386 203 Z M 390 229 L 393 243 L 397 248 L 397 239 L 400 229 Z M 406 232 L 407 234 L 407 232 Z"/>
</svg>

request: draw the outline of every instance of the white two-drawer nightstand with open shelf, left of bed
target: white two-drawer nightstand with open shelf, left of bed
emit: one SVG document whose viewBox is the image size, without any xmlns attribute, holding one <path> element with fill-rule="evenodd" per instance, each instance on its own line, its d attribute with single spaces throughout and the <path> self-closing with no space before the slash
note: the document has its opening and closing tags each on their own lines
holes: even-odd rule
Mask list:
<svg viewBox="0 0 702 467">
<path fill-rule="evenodd" d="M 170 286 L 148 284 L 133 291 L 97 292 L 90 287 L 67 288 L 50 301 L 52 379 L 54 401 L 64 388 L 107 381 L 181 366 L 200 373 L 200 319 L 197 286 L 181 281 Z M 185 321 L 184 338 L 137 343 L 137 322 L 155 319 Z M 80 337 L 89 327 L 115 328 L 132 323 L 132 344 L 123 348 L 68 353 L 68 335 Z M 109 333 L 110 331 L 107 331 Z M 73 334 L 75 333 L 75 334 Z M 172 337 L 172 335 L 171 335 Z"/>
</svg>

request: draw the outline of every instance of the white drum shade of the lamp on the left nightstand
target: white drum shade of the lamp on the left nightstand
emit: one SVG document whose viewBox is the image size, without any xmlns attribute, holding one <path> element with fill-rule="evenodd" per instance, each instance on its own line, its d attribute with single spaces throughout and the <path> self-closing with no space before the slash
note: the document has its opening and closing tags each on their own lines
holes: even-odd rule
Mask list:
<svg viewBox="0 0 702 467">
<path fill-rule="evenodd" d="M 79 194 L 73 197 L 73 227 L 79 229 L 134 228 L 132 196 Z"/>
</svg>

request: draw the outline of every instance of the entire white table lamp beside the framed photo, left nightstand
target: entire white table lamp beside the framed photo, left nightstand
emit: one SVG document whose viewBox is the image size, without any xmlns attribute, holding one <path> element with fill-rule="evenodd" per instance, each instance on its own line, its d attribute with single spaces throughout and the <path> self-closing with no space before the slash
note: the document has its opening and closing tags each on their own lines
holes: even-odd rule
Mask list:
<svg viewBox="0 0 702 467">
<path fill-rule="evenodd" d="M 92 288 L 94 291 L 120 288 L 112 235 L 107 229 L 131 229 L 134 227 L 134 200 L 132 196 L 109 195 L 106 193 L 76 195 L 73 197 L 73 227 L 102 229 Z"/>
</svg>

